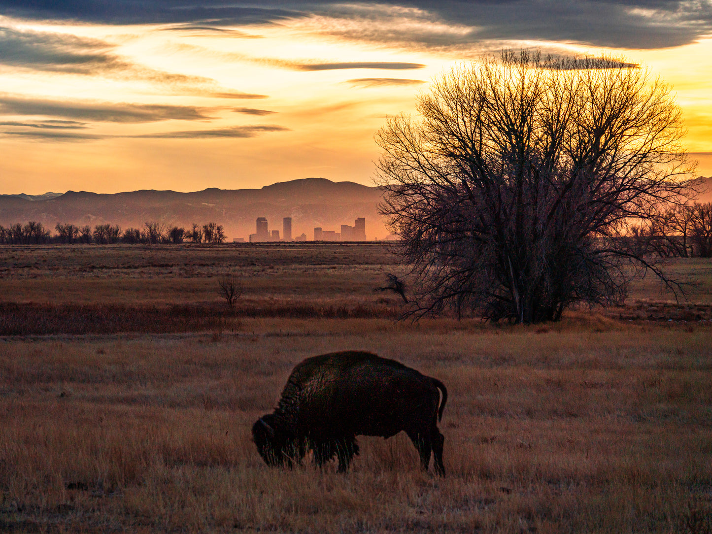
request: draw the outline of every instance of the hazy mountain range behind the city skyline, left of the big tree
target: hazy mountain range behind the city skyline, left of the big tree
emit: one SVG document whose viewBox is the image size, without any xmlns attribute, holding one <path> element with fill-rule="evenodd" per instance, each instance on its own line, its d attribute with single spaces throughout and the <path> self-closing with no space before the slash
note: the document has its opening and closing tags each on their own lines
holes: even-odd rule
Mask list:
<svg viewBox="0 0 712 534">
<path fill-rule="evenodd" d="M 141 190 L 116 194 L 68 191 L 65 194 L 0 195 L 0 224 L 37 221 L 51 229 L 60 223 L 83 226 L 118 224 L 140 228 L 146 221 L 170 226 L 214 221 L 224 226 L 228 240 L 256 231 L 257 217 L 280 231 L 282 219 L 292 218 L 292 235 L 313 239 L 315 226 L 340 231 L 366 218 L 368 239 L 384 239 L 388 232 L 377 211 L 381 190 L 354 182 L 305 178 L 279 182 L 262 189 L 204 189 L 192 193 Z M 46 197 L 46 198 L 42 198 Z"/>
</svg>

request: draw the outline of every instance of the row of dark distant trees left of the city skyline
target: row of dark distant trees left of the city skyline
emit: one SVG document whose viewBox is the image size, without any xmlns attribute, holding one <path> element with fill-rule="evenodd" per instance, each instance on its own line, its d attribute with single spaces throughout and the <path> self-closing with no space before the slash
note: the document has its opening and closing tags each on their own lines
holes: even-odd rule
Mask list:
<svg viewBox="0 0 712 534">
<path fill-rule="evenodd" d="M 97 224 L 92 229 L 85 224 L 57 223 L 56 234 L 42 223 L 29 221 L 10 226 L 0 225 L 0 244 L 35 245 L 35 244 L 74 244 L 74 243 L 224 243 L 226 236 L 221 224 L 193 224 L 191 229 L 182 226 L 167 226 L 156 221 L 146 221 L 142 228 L 127 228 L 122 231 L 117 224 Z"/>
</svg>

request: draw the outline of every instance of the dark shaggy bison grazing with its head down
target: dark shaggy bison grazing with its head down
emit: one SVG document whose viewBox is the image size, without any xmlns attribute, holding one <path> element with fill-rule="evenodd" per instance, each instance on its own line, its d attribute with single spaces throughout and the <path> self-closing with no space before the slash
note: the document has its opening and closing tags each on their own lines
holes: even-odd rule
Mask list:
<svg viewBox="0 0 712 534">
<path fill-rule="evenodd" d="M 427 471 L 432 451 L 435 472 L 444 476 L 437 422 L 446 400 L 442 382 L 399 362 L 369 352 L 332 352 L 294 368 L 277 408 L 257 420 L 252 436 L 270 466 L 291 467 L 311 450 L 318 466 L 336 455 L 343 472 L 358 454 L 357 435 L 389 438 L 404 430 L 422 468 Z"/>
</svg>

